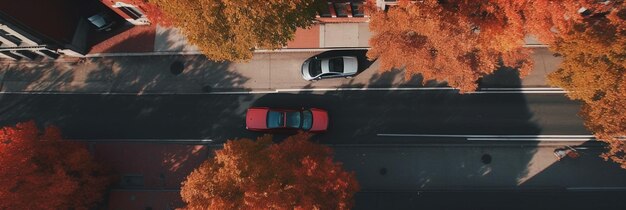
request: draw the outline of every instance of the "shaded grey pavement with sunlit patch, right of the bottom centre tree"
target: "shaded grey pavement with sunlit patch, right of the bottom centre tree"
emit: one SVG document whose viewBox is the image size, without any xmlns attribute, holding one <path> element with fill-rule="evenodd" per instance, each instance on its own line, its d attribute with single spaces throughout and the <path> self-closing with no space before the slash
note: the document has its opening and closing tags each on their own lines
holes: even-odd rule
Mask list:
<svg viewBox="0 0 626 210">
<path fill-rule="evenodd" d="M 557 147 L 352 145 L 334 150 L 335 160 L 355 171 L 363 192 L 626 190 L 626 170 L 599 158 L 601 147 L 589 147 L 580 158 L 561 161 L 552 154 Z"/>
</svg>

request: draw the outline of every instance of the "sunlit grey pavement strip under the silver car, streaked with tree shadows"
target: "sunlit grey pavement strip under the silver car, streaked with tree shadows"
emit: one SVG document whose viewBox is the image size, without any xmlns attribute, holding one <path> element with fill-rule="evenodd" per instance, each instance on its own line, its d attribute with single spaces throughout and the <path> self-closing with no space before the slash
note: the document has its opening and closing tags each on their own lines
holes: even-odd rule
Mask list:
<svg viewBox="0 0 626 210">
<path fill-rule="evenodd" d="M 328 53 L 328 52 L 326 52 Z M 114 56 L 56 62 L 4 62 L 0 67 L 2 92 L 62 93 L 203 93 L 219 91 L 272 91 L 336 87 L 422 87 L 421 78 L 405 79 L 401 70 L 380 71 L 368 62 L 365 51 L 351 51 L 367 67 L 351 79 L 308 82 L 300 68 L 317 52 L 257 53 L 247 63 L 216 63 L 201 55 Z M 534 71 L 522 87 L 547 87 L 545 78 L 560 58 L 545 48 L 533 54 Z M 177 74 L 177 70 L 182 70 Z M 491 78 L 490 78 L 491 77 Z M 483 80 L 488 87 L 520 87 L 519 81 L 497 75 Z M 441 86 L 428 83 L 427 86 Z"/>
</svg>

